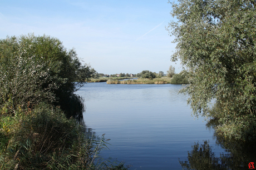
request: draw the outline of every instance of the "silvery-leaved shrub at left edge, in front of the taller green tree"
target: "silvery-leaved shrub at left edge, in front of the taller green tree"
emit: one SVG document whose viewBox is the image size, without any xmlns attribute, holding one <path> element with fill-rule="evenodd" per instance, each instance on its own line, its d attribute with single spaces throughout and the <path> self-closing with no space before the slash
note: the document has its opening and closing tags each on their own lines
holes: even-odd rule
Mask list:
<svg viewBox="0 0 256 170">
<path fill-rule="evenodd" d="M 0 42 L 1 43 L 1 42 Z M 60 85 L 57 77 L 52 77 L 46 63 L 35 56 L 27 57 L 23 43 L 19 44 L 16 55 L 2 56 L 0 64 L 0 106 L 16 114 L 18 107 L 28 102 L 35 104 L 43 100 L 53 102 L 53 91 Z M 6 114 L 7 112 L 2 114 Z"/>
</svg>

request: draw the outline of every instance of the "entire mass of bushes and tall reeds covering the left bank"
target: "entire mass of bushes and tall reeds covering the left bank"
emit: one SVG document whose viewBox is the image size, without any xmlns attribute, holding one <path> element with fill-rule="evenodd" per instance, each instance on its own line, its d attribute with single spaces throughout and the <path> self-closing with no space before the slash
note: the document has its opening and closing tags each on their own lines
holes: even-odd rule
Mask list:
<svg viewBox="0 0 256 170">
<path fill-rule="evenodd" d="M 80 125 L 74 92 L 94 73 L 56 38 L 0 40 L 1 169 L 126 169 L 99 157 L 104 136 Z"/>
</svg>

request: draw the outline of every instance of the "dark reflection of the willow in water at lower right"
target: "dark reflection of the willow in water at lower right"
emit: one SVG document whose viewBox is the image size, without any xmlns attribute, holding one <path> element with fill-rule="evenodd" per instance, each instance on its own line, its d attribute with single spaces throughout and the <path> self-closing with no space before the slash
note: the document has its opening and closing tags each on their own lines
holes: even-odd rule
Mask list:
<svg viewBox="0 0 256 170">
<path fill-rule="evenodd" d="M 208 128 L 216 126 L 214 121 L 206 124 Z M 255 141 L 243 142 L 226 139 L 214 133 L 216 144 L 226 149 L 228 153 L 216 156 L 209 146 L 209 141 L 204 144 L 195 143 L 192 151 L 188 152 L 188 161 L 179 161 L 183 169 L 248 169 L 250 162 L 256 163 Z M 256 167 L 255 167 L 256 168 Z"/>
</svg>

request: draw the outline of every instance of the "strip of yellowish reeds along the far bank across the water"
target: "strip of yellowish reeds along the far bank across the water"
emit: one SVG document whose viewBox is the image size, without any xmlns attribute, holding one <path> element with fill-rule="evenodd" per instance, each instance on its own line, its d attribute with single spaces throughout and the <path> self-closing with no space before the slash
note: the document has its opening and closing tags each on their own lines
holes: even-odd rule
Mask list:
<svg viewBox="0 0 256 170">
<path fill-rule="evenodd" d="M 169 84 L 171 78 L 139 78 L 139 79 L 129 79 L 126 81 L 118 81 L 118 80 L 108 80 L 107 84 Z"/>
</svg>

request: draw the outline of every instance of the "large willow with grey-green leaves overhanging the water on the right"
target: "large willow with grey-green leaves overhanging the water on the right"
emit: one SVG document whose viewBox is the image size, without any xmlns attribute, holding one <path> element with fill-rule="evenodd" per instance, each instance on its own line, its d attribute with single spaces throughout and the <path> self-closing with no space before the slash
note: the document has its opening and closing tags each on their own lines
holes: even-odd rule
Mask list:
<svg viewBox="0 0 256 170">
<path fill-rule="evenodd" d="M 179 0 L 167 28 L 176 38 L 173 61 L 189 69 L 188 103 L 195 116 L 219 119 L 226 137 L 255 139 L 256 1 Z M 216 101 L 216 112 L 209 103 Z"/>
</svg>

